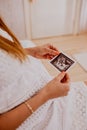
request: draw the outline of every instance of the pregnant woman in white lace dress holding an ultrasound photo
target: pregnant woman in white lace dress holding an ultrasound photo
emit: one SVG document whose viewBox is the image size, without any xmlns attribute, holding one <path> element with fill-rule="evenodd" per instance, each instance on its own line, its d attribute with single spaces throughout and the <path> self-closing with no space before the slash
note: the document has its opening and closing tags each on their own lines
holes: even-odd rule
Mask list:
<svg viewBox="0 0 87 130">
<path fill-rule="evenodd" d="M 33 58 L 51 59 L 58 50 L 23 49 L 1 18 L 0 29 L 10 37 L 0 36 L 0 130 L 86 130 L 86 85 L 73 83 L 70 89 L 67 73 L 52 79 Z"/>
</svg>

